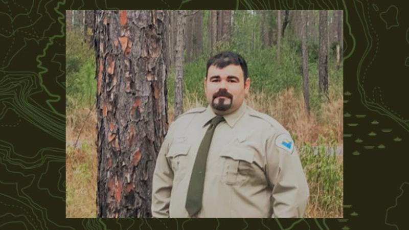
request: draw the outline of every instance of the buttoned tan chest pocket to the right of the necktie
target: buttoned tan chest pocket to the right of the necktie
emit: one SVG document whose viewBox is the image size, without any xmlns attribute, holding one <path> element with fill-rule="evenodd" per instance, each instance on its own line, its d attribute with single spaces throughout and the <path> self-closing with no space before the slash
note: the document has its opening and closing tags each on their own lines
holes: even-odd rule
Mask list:
<svg viewBox="0 0 409 230">
<path fill-rule="evenodd" d="M 256 162 L 255 155 L 241 147 L 229 147 L 220 153 L 223 158 L 221 181 L 227 185 L 240 185 L 253 174 Z"/>
</svg>

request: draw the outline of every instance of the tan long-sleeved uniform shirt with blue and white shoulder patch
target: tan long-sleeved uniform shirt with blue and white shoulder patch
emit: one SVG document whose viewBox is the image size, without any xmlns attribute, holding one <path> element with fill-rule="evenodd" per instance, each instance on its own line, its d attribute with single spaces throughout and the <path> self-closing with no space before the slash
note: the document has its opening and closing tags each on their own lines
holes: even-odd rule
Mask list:
<svg viewBox="0 0 409 230">
<path fill-rule="evenodd" d="M 181 115 L 169 128 L 153 175 L 153 217 L 189 217 L 186 196 L 197 149 L 216 114 L 210 106 Z M 309 196 L 289 133 L 243 104 L 213 135 L 202 208 L 194 217 L 302 217 Z"/>
</svg>

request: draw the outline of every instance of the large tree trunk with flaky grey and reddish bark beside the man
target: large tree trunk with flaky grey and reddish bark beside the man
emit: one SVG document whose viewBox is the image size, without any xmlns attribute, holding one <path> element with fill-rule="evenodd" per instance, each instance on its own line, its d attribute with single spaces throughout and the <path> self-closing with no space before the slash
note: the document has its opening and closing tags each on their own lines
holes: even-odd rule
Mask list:
<svg viewBox="0 0 409 230">
<path fill-rule="evenodd" d="M 151 217 L 167 123 L 164 11 L 96 11 L 98 217 Z"/>
</svg>

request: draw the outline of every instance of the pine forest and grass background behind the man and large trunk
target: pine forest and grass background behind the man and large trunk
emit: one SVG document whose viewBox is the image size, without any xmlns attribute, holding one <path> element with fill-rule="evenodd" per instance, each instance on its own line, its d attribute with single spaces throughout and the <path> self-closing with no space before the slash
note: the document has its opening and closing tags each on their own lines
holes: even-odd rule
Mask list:
<svg viewBox="0 0 409 230">
<path fill-rule="evenodd" d="M 66 217 L 97 216 L 94 13 L 66 11 Z M 343 117 L 348 116 L 343 114 L 342 11 L 166 15 L 168 123 L 183 111 L 206 106 L 202 82 L 212 54 L 239 53 L 252 80 L 247 105 L 278 120 L 296 142 L 311 194 L 306 217 L 342 217 Z M 175 55 L 178 49 L 183 55 Z M 183 85 L 176 87 L 180 71 Z"/>
</svg>

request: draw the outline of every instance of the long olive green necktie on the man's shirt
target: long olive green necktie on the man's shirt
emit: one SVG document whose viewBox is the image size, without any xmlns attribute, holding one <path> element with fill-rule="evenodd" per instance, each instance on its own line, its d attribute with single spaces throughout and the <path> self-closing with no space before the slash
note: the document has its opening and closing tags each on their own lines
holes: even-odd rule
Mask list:
<svg viewBox="0 0 409 230">
<path fill-rule="evenodd" d="M 201 199 L 203 196 L 203 183 L 205 182 L 208 152 L 210 144 L 212 143 L 214 130 L 216 129 L 216 126 L 222 121 L 224 121 L 224 118 L 222 116 L 216 116 L 212 119 L 205 136 L 203 136 L 203 139 L 201 140 L 199 149 L 197 150 L 185 205 L 189 216 L 193 216 L 201 209 Z"/>
</svg>

